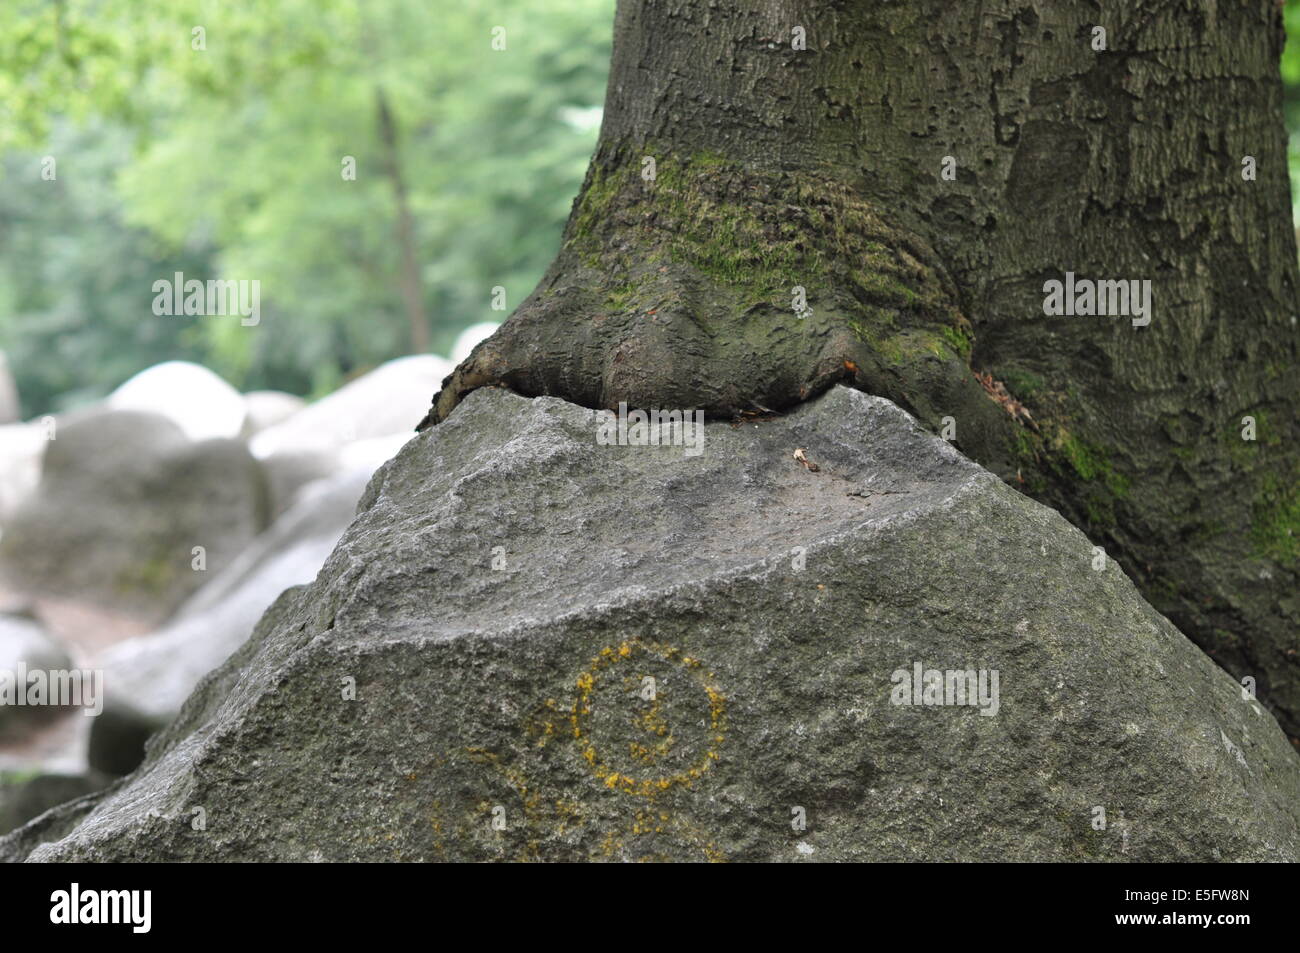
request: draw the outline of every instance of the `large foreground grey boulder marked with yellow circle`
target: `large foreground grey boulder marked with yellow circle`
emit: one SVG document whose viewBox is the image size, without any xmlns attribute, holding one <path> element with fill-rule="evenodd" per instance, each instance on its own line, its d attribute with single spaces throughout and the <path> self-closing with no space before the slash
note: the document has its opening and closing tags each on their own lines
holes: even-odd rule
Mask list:
<svg viewBox="0 0 1300 953">
<path fill-rule="evenodd" d="M 0 840 L 29 854 L 1295 861 L 1300 759 L 1080 532 L 887 400 L 692 455 L 485 389 L 136 772 Z"/>
</svg>

